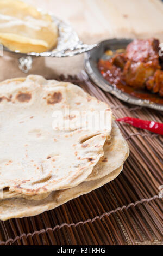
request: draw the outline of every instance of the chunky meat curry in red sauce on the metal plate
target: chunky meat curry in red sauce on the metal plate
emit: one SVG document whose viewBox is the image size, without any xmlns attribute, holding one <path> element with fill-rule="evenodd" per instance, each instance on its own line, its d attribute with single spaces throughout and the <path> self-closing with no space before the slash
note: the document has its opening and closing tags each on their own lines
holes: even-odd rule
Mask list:
<svg viewBox="0 0 163 256">
<path fill-rule="evenodd" d="M 157 39 L 134 40 L 123 52 L 112 53 L 109 60 L 98 62 L 101 74 L 110 84 L 133 96 L 158 103 L 163 103 L 162 67 Z M 149 90 L 151 96 L 147 95 Z"/>
</svg>

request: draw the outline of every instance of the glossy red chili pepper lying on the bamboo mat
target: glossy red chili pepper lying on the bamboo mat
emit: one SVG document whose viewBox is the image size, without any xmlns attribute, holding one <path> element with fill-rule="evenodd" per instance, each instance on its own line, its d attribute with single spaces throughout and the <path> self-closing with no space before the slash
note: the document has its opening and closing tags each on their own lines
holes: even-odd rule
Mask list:
<svg viewBox="0 0 163 256">
<path fill-rule="evenodd" d="M 118 122 L 129 123 L 131 126 L 135 126 L 141 129 L 149 130 L 153 133 L 163 135 L 163 123 L 157 123 L 154 121 L 141 120 L 133 117 L 122 117 L 117 119 Z"/>
</svg>

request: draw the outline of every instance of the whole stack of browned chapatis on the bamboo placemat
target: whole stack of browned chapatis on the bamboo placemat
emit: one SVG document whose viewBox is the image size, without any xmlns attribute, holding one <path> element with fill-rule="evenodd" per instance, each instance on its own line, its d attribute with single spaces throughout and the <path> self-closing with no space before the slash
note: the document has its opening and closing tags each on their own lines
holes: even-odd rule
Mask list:
<svg viewBox="0 0 163 256">
<path fill-rule="evenodd" d="M 120 174 L 126 140 L 109 106 L 68 82 L 0 84 L 0 219 L 33 216 Z"/>
</svg>

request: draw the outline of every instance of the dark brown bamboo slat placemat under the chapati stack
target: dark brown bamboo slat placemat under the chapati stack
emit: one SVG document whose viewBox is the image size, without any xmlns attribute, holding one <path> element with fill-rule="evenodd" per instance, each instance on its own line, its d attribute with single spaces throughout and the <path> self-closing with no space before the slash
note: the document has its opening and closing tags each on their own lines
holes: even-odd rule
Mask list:
<svg viewBox="0 0 163 256">
<path fill-rule="evenodd" d="M 87 78 L 61 75 L 99 100 L 115 117 L 163 122 L 163 113 L 125 104 Z M 163 137 L 118 123 L 130 156 L 116 180 L 35 217 L 0 222 L 0 245 L 163 245 Z"/>
</svg>

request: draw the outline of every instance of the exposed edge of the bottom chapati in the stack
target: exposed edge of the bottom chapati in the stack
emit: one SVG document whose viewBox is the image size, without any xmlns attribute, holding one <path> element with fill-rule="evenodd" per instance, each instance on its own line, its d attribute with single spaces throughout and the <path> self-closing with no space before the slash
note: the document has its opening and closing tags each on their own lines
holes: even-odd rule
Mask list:
<svg viewBox="0 0 163 256">
<path fill-rule="evenodd" d="M 49 197 L 40 201 L 29 201 L 23 198 L 0 200 L 0 219 L 7 221 L 7 219 L 11 218 L 35 216 L 42 212 L 52 210 L 65 204 L 67 201 L 87 194 L 114 180 L 122 169 L 123 166 L 99 180 L 85 181 L 80 183 L 77 187 L 52 192 Z"/>
</svg>

